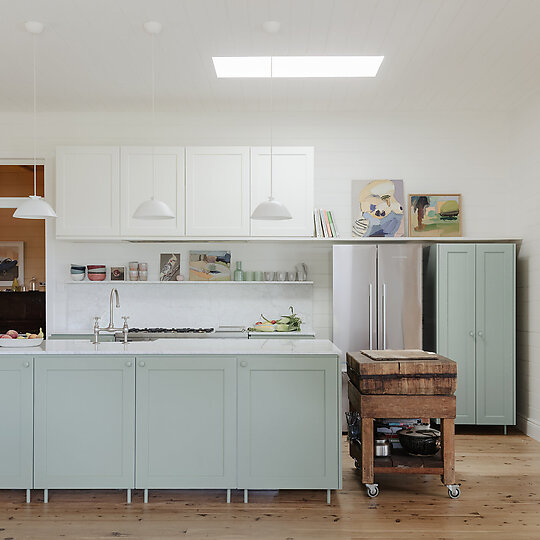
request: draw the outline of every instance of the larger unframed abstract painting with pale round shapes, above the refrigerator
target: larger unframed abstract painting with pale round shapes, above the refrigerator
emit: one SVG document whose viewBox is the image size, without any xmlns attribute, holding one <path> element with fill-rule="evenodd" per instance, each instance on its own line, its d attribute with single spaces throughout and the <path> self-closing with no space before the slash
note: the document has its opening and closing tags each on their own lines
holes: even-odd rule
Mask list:
<svg viewBox="0 0 540 540">
<path fill-rule="evenodd" d="M 351 185 L 353 236 L 405 236 L 403 180 L 353 180 Z"/>
</svg>

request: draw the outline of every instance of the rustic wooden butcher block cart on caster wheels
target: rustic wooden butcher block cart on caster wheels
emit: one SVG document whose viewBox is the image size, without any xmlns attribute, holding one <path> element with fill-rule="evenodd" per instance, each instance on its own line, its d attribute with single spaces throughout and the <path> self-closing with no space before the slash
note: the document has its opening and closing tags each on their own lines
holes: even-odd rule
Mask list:
<svg viewBox="0 0 540 540">
<path fill-rule="evenodd" d="M 456 363 L 420 350 L 370 350 L 347 353 L 347 373 L 350 410 L 359 413 L 361 423 L 360 440 L 351 440 L 350 455 L 367 494 L 379 494 L 378 474 L 438 474 L 449 496 L 459 497 L 454 468 Z M 392 449 L 388 457 L 374 457 L 373 424 L 382 418 L 439 418 L 441 449 L 434 456 Z"/>
</svg>

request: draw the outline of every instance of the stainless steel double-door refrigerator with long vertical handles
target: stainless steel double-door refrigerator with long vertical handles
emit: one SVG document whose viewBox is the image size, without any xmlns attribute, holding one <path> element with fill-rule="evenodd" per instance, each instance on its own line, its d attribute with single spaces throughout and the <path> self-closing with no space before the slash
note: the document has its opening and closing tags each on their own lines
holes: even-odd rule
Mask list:
<svg viewBox="0 0 540 540">
<path fill-rule="evenodd" d="M 422 246 L 336 245 L 333 341 L 343 353 L 422 348 Z"/>
</svg>

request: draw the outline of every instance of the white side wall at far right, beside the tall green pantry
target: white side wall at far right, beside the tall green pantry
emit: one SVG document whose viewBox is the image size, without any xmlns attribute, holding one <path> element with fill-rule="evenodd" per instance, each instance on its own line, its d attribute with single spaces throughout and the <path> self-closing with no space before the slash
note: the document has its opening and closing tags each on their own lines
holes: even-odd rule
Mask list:
<svg viewBox="0 0 540 540">
<path fill-rule="evenodd" d="M 508 231 L 523 237 L 517 272 L 518 425 L 540 440 L 540 97 L 517 112 L 512 140 Z"/>
</svg>

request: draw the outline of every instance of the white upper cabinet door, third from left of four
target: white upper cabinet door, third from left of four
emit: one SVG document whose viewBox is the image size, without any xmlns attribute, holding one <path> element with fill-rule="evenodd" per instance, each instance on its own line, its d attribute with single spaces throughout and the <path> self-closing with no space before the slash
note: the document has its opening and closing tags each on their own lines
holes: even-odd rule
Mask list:
<svg viewBox="0 0 540 540">
<path fill-rule="evenodd" d="M 186 148 L 186 234 L 250 234 L 249 148 Z"/>
</svg>

